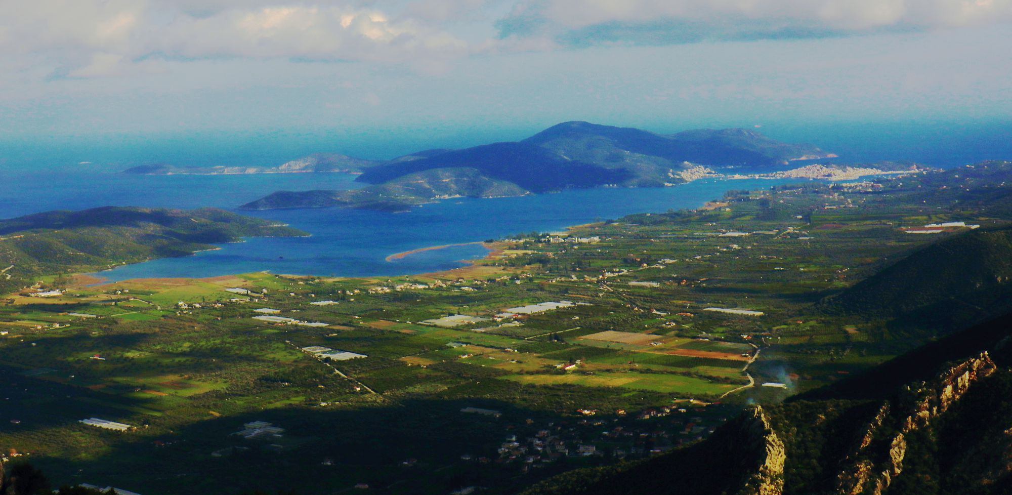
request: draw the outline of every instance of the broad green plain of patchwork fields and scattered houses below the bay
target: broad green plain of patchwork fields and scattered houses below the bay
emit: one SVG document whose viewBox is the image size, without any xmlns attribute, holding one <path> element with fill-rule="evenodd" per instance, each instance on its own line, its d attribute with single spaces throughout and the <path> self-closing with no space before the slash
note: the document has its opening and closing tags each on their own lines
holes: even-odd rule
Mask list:
<svg viewBox="0 0 1012 495">
<path fill-rule="evenodd" d="M 146 495 L 508 492 L 647 457 L 747 401 L 778 402 L 945 331 L 820 306 L 935 240 L 902 226 L 1006 225 L 898 203 L 889 187 L 731 191 L 724 207 L 513 236 L 474 266 L 424 275 L 40 277 L 0 302 L 2 446 L 55 479 Z M 254 320 L 258 309 L 287 320 Z M 136 428 L 78 423 L 91 417 Z M 284 432 L 232 434 L 258 420 Z M 541 440 L 525 435 L 554 446 L 527 462 Z M 248 477 L 278 465 L 276 478 Z"/>
</svg>

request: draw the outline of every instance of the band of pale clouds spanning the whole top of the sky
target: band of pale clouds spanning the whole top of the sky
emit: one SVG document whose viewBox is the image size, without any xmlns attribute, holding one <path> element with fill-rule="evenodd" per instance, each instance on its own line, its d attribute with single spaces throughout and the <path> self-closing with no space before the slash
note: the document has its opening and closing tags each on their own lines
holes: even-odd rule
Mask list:
<svg viewBox="0 0 1012 495">
<path fill-rule="evenodd" d="M 1010 19 L 1012 0 L 8 1 L 0 2 L 0 67 L 29 58 L 51 79 L 85 79 L 157 72 L 159 61 L 242 59 L 396 64 L 432 75 L 476 54 Z"/>
</svg>

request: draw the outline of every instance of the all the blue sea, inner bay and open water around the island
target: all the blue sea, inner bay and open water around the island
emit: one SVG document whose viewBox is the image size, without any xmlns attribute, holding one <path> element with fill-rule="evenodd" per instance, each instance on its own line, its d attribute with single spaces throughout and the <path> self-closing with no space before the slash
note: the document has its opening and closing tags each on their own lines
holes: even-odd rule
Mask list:
<svg viewBox="0 0 1012 495">
<path fill-rule="evenodd" d="M 815 143 L 840 154 L 838 161 L 846 163 L 906 159 L 951 167 L 985 159 L 1012 158 L 1009 129 L 998 125 L 976 128 L 852 126 L 832 128 L 832 133 L 812 127 L 761 131 L 782 141 Z M 306 139 L 297 140 L 288 147 L 277 146 L 277 142 L 270 140 L 222 139 L 225 142 L 0 143 L 0 180 L 3 181 L 0 218 L 102 205 L 217 207 L 237 211 L 239 204 L 276 190 L 360 186 L 354 182 L 354 176 L 334 173 L 213 176 L 118 173 L 138 163 L 276 165 L 314 151 L 344 151 L 335 149 L 333 144 L 314 144 Z M 461 146 L 471 144 L 461 143 Z M 405 149 L 407 146 L 411 145 L 405 145 Z M 201 153 L 201 150 L 207 152 Z M 391 149 L 387 155 L 395 156 L 401 151 Z M 423 273 L 461 266 L 461 260 L 483 257 L 487 251 L 480 245 L 468 245 L 424 251 L 394 261 L 385 258 L 428 246 L 469 243 L 531 231 L 559 231 L 568 226 L 634 213 L 697 208 L 721 197 L 730 188 L 769 187 L 774 183 L 777 182 L 711 180 L 663 188 L 595 188 L 524 197 L 451 199 L 403 214 L 344 209 L 240 212 L 288 224 L 312 236 L 247 239 L 242 243 L 222 245 L 216 251 L 123 266 L 100 274 L 109 280 L 122 280 L 204 277 L 261 270 L 337 276 Z"/>
</svg>

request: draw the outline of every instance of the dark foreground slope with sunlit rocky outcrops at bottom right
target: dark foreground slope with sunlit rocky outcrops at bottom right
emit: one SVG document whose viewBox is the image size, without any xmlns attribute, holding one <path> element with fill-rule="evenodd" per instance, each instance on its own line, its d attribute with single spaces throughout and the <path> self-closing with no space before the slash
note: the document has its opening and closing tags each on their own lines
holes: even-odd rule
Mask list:
<svg viewBox="0 0 1012 495">
<path fill-rule="evenodd" d="M 883 399 L 753 406 L 702 442 L 526 494 L 1012 493 L 1012 370 L 989 352 L 953 362 Z"/>
</svg>

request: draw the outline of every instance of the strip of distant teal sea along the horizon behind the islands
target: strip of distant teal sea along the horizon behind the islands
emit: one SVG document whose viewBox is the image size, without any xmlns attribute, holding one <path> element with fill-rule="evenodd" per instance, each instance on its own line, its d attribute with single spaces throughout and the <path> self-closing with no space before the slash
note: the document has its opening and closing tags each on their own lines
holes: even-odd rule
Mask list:
<svg viewBox="0 0 1012 495">
<path fill-rule="evenodd" d="M 473 128 L 442 133 L 431 129 L 317 130 L 270 134 L 253 132 L 177 132 L 106 136 L 0 137 L 0 168 L 49 169 L 79 165 L 117 171 L 145 163 L 179 166 L 273 166 L 313 153 L 341 153 L 385 160 L 433 148 L 467 148 L 529 137 L 550 126 Z M 1012 119 L 975 121 L 905 120 L 879 122 L 712 122 L 698 126 L 636 125 L 659 134 L 689 129 L 745 128 L 770 138 L 810 143 L 840 154 L 841 163 L 906 160 L 933 166 L 956 166 L 982 160 L 1012 158 Z"/>
</svg>

